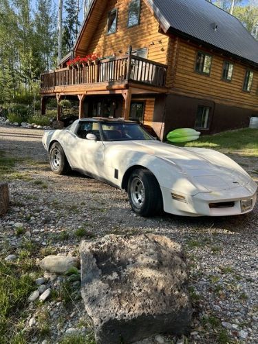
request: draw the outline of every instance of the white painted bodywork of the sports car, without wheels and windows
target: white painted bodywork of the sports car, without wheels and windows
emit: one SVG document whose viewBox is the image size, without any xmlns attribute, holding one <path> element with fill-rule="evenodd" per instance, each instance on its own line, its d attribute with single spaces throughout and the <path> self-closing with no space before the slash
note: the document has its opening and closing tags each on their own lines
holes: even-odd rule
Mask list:
<svg viewBox="0 0 258 344">
<path fill-rule="evenodd" d="M 78 138 L 81 121 L 69 129 L 45 131 L 50 151 L 59 142 L 72 169 L 127 189 L 130 171 L 148 169 L 162 193 L 166 213 L 184 216 L 238 215 L 252 211 L 257 184 L 236 162 L 211 149 L 175 147 L 156 140 L 103 141 Z"/>
</svg>

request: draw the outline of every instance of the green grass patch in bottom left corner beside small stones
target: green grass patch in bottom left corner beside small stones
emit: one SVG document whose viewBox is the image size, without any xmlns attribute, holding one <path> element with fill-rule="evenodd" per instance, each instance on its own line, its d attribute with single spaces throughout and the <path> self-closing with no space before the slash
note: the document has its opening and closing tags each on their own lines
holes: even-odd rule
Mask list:
<svg viewBox="0 0 258 344">
<path fill-rule="evenodd" d="M 33 278 L 16 264 L 0 259 L 0 338 L 1 343 L 23 343 L 12 338 L 15 323 L 25 310 L 27 299 L 35 289 Z M 13 340 L 12 340 L 13 339 Z M 15 340 L 14 340 L 15 339 Z"/>
</svg>

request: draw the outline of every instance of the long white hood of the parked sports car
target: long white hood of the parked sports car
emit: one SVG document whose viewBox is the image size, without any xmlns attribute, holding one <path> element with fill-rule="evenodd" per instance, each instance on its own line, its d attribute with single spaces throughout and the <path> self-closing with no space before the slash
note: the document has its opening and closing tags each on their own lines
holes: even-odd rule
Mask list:
<svg viewBox="0 0 258 344">
<path fill-rule="evenodd" d="M 114 144 L 114 142 L 113 142 Z M 157 141 L 130 141 L 114 149 L 153 155 L 185 175 L 200 190 L 216 191 L 246 186 L 250 176 L 226 155 L 211 149 L 176 147 Z"/>
</svg>

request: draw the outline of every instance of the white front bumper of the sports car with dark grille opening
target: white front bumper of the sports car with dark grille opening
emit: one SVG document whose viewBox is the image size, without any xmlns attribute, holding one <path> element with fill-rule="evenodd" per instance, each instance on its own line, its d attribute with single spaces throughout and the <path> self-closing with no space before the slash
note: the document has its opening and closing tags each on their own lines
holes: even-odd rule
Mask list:
<svg viewBox="0 0 258 344">
<path fill-rule="evenodd" d="M 184 196 L 184 202 L 173 199 L 171 189 L 161 188 L 164 211 L 183 216 L 229 216 L 240 215 L 250 211 L 257 201 L 257 186 L 239 186 L 234 189 L 197 193 Z M 178 192 L 177 192 L 178 193 Z"/>
</svg>

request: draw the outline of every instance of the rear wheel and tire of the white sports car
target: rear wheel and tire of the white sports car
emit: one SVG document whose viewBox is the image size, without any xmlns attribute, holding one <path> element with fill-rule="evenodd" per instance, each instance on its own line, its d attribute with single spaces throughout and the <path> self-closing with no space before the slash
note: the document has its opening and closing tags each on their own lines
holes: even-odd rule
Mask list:
<svg viewBox="0 0 258 344">
<path fill-rule="evenodd" d="M 65 175 L 69 171 L 71 171 L 71 167 L 69 165 L 69 162 L 67 161 L 65 152 L 63 151 L 63 148 L 61 147 L 60 143 L 54 142 L 52 144 L 52 146 L 50 147 L 49 156 L 50 168 L 52 172 L 59 175 Z"/>
</svg>

